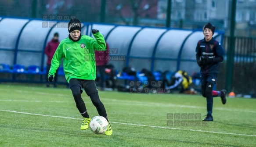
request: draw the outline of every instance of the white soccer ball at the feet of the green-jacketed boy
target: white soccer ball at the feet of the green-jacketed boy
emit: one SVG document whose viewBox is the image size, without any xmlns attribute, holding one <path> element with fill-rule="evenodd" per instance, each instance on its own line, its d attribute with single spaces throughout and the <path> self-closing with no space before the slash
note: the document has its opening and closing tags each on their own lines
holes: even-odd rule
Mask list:
<svg viewBox="0 0 256 147">
<path fill-rule="evenodd" d="M 103 134 L 108 129 L 108 121 L 103 116 L 95 116 L 90 121 L 90 129 L 95 134 Z"/>
</svg>

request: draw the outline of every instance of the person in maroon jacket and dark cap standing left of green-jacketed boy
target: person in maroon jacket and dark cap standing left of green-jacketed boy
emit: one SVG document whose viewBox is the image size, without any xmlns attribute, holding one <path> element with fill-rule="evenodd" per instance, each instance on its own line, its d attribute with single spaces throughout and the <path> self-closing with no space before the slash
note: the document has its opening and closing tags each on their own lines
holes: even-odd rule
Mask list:
<svg viewBox="0 0 256 147">
<path fill-rule="evenodd" d="M 44 50 L 44 53 L 48 57 L 46 77 L 48 77 L 48 72 L 50 70 L 51 59 L 52 59 L 57 47 L 59 46 L 59 44 L 60 44 L 59 34 L 58 34 L 58 32 L 55 32 L 53 39 L 51 39 L 51 41 L 47 43 L 47 46 L 45 47 L 45 50 Z M 56 73 L 58 73 L 58 70 L 57 70 Z M 55 77 L 54 77 L 54 87 L 57 87 L 57 79 L 58 79 L 58 74 L 56 74 Z M 48 81 L 48 78 L 46 78 L 46 86 L 47 87 L 50 86 L 50 82 Z"/>
</svg>

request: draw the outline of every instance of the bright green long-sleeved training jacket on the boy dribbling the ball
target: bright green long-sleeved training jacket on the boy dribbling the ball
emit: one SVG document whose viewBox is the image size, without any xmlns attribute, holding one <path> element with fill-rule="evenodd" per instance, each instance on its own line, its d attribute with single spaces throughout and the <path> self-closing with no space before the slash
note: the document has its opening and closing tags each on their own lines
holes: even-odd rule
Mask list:
<svg viewBox="0 0 256 147">
<path fill-rule="evenodd" d="M 104 37 L 100 32 L 93 34 L 95 39 L 82 35 L 81 39 L 74 42 L 69 37 L 63 39 L 59 44 L 51 60 L 50 75 L 55 76 L 56 70 L 63 58 L 65 78 L 95 80 L 96 62 L 94 50 L 106 50 Z"/>
</svg>

